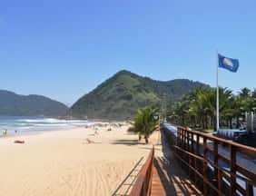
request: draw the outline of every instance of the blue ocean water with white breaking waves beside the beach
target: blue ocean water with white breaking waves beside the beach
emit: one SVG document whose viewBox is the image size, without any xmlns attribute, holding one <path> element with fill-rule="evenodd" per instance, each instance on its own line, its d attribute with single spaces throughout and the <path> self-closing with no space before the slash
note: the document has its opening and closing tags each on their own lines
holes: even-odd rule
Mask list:
<svg viewBox="0 0 256 196">
<path fill-rule="evenodd" d="M 0 136 L 30 132 L 57 131 L 81 127 L 92 122 L 83 120 L 59 120 L 43 117 L 0 116 Z"/>
</svg>

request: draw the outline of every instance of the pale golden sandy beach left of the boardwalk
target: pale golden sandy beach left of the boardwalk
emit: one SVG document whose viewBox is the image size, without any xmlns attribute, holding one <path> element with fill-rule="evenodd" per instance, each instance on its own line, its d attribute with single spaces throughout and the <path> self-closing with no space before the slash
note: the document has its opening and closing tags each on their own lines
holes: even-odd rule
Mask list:
<svg viewBox="0 0 256 196">
<path fill-rule="evenodd" d="M 1 138 L 0 195 L 111 195 L 153 143 L 138 144 L 138 136 L 127 128 Z"/>
</svg>

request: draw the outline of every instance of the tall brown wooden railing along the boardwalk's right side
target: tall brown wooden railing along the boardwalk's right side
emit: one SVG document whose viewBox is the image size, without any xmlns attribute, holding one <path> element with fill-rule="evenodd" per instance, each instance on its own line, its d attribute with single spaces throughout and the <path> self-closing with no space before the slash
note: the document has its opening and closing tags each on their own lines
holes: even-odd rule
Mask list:
<svg viewBox="0 0 256 196">
<path fill-rule="evenodd" d="M 256 174 L 237 160 L 241 154 L 256 159 L 255 148 L 179 127 L 174 149 L 182 167 L 202 185 L 204 195 L 253 195 Z"/>
</svg>

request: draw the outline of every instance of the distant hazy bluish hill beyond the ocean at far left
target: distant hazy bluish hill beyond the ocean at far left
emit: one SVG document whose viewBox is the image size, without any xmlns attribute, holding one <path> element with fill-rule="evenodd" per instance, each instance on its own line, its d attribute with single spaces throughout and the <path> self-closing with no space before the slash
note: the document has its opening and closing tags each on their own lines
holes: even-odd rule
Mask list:
<svg viewBox="0 0 256 196">
<path fill-rule="evenodd" d="M 41 95 L 20 95 L 0 90 L 0 115 L 9 116 L 60 116 L 68 111 L 63 103 Z"/>
</svg>

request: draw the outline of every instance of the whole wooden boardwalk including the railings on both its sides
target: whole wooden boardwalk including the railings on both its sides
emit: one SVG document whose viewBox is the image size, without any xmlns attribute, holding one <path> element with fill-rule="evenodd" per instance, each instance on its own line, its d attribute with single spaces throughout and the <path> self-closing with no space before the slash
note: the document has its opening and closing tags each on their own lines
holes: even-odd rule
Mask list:
<svg viewBox="0 0 256 196">
<path fill-rule="evenodd" d="M 227 142 L 182 127 L 178 128 L 175 145 L 172 145 L 172 138 L 169 138 L 168 142 L 172 148 L 167 143 L 167 137 L 161 138 L 161 141 L 155 143 L 130 196 L 209 194 L 233 196 L 236 193 L 255 195 L 255 172 L 242 167 L 237 162 L 239 153 L 256 158 L 255 148 Z M 224 157 L 219 153 L 220 145 L 229 147 L 230 157 Z M 220 163 L 228 165 L 230 170 Z M 203 193 L 185 172 L 200 184 Z"/>
</svg>

